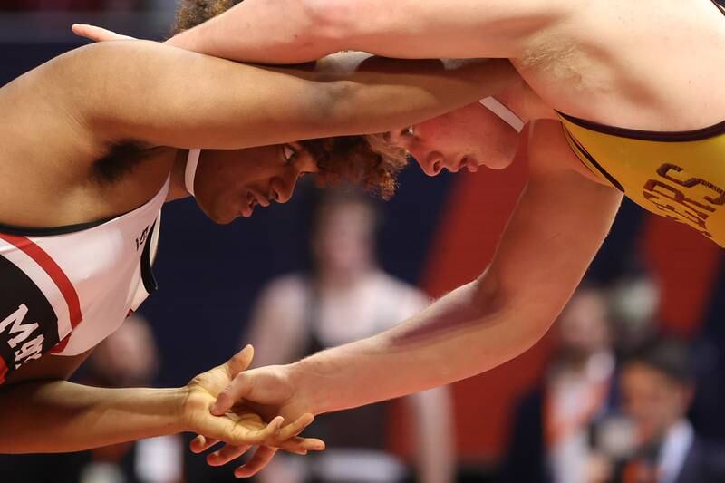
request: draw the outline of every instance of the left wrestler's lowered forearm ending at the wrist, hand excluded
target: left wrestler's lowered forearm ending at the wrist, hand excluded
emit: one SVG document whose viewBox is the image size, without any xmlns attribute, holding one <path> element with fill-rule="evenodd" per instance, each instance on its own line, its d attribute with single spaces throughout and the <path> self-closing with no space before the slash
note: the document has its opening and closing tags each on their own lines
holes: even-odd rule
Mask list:
<svg viewBox="0 0 725 483">
<path fill-rule="evenodd" d="M 0 390 L 0 453 L 77 451 L 176 433 L 185 391 L 23 382 Z"/>
</svg>

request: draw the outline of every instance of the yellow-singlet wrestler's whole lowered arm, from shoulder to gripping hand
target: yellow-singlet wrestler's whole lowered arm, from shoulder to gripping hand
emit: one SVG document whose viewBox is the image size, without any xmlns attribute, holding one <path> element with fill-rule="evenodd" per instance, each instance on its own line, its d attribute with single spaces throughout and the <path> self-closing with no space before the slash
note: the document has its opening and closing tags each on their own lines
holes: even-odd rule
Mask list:
<svg viewBox="0 0 725 483">
<path fill-rule="evenodd" d="M 622 196 L 558 168 L 557 157 L 578 162 L 559 123 L 533 129 L 530 180 L 478 280 L 386 333 L 239 374 L 212 411 L 239 398 L 275 414 L 341 410 L 488 371 L 536 343 L 585 274 Z"/>
</svg>

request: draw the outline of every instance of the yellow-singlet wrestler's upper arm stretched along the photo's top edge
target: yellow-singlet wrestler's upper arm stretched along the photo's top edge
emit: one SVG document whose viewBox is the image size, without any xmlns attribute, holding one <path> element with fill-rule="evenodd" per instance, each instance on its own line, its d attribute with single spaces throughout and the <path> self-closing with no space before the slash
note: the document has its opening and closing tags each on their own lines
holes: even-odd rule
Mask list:
<svg viewBox="0 0 725 483">
<path fill-rule="evenodd" d="M 516 58 L 534 34 L 564 22 L 573 6 L 564 0 L 245 0 L 169 43 L 260 63 L 307 62 L 343 50 Z"/>
</svg>

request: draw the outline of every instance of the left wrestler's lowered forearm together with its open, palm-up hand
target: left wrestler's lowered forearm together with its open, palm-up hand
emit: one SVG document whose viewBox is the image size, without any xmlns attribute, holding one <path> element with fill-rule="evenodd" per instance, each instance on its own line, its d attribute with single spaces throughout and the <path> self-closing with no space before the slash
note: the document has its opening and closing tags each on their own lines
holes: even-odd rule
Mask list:
<svg viewBox="0 0 725 483">
<path fill-rule="evenodd" d="M 0 453 L 76 451 L 180 431 L 196 431 L 237 446 L 283 444 L 311 419 L 304 417 L 279 430 L 280 419 L 267 425 L 251 412 L 238 411 L 223 418 L 208 412 L 219 391 L 247 369 L 252 354 L 249 346 L 176 389 L 104 389 L 60 379 L 10 381 L 0 387 Z M 47 361 L 53 359 L 46 357 L 50 358 Z M 43 359 L 38 361 L 41 365 Z M 37 378 L 40 372 L 36 369 L 20 369 L 15 374 Z M 318 440 L 293 439 L 283 446 L 304 451 L 320 444 Z"/>
</svg>

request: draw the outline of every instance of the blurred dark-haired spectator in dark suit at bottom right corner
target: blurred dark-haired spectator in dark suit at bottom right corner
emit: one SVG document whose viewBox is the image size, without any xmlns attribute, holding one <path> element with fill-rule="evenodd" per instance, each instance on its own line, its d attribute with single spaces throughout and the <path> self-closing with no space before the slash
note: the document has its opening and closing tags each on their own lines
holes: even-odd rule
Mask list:
<svg viewBox="0 0 725 483">
<path fill-rule="evenodd" d="M 660 340 L 633 353 L 623 364 L 621 386 L 633 444 L 629 456 L 616 465 L 612 481 L 725 481 L 725 449 L 699 438 L 685 419 L 694 390 L 685 344 Z"/>
</svg>

